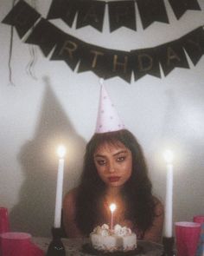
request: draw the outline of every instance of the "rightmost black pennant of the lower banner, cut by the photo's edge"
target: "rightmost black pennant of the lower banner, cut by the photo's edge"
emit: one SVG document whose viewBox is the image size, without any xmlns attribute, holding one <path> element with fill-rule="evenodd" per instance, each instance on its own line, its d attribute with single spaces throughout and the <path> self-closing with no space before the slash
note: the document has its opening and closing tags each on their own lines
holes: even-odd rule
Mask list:
<svg viewBox="0 0 204 256">
<path fill-rule="evenodd" d="M 200 27 L 181 38 L 184 49 L 194 65 L 199 62 L 204 54 L 204 30 Z"/>
</svg>

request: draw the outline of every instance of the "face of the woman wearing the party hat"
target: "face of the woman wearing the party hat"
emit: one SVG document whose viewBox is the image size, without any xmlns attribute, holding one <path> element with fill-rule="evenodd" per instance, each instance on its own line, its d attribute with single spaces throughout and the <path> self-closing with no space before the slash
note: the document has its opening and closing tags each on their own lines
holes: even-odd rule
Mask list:
<svg viewBox="0 0 204 256">
<path fill-rule="evenodd" d="M 122 187 L 131 177 L 132 154 L 123 143 L 105 142 L 96 149 L 93 158 L 99 177 L 108 187 Z"/>
</svg>

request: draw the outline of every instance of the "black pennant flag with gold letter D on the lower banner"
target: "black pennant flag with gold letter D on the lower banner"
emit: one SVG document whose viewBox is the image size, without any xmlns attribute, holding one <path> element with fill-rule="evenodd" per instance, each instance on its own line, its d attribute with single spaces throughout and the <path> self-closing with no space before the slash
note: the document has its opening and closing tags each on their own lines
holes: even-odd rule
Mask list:
<svg viewBox="0 0 204 256">
<path fill-rule="evenodd" d="M 135 81 L 143 75 L 161 77 L 159 60 L 153 48 L 131 50 Z"/>
</svg>

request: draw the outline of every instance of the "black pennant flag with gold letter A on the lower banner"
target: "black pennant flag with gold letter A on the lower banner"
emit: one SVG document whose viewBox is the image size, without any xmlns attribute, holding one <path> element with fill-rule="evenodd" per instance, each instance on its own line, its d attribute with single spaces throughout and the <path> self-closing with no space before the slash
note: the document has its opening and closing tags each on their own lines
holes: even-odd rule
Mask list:
<svg viewBox="0 0 204 256">
<path fill-rule="evenodd" d="M 168 75 L 173 69 L 189 69 L 188 60 L 182 48 L 181 40 L 165 43 L 156 47 L 156 55 L 163 68 L 163 74 Z"/>
</svg>

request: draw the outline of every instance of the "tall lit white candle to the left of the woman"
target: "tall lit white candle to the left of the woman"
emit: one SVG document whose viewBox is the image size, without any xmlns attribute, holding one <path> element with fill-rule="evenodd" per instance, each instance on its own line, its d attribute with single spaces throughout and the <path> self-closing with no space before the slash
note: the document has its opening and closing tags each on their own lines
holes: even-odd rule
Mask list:
<svg viewBox="0 0 204 256">
<path fill-rule="evenodd" d="M 61 227 L 61 205 L 62 205 L 62 191 L 63 191 L 63 175 L 64 175 L 64 156 L 66 148 L 59 146 L 57 153 L 59 155 L 59 165 L 57 173 L 57 187 L 55 199 L 55 212 L 54 212 L 54 227 Z"/>
</svg>

